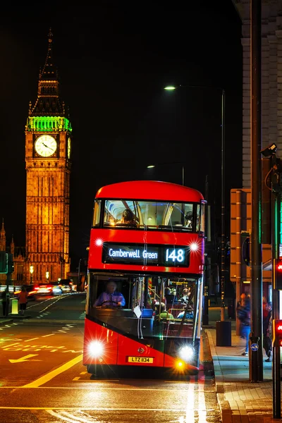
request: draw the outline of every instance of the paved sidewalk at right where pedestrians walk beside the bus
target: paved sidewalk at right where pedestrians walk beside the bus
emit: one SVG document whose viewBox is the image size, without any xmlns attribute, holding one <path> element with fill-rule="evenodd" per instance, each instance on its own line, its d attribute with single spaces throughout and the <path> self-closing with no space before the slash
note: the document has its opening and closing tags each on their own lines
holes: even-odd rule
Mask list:
<svg viewBox="0 0 282 423">
<path fill-rule="evenodd" d="M 249 358 L 241 354 L 245 340 L 236 335 L 235 321 L 231 323 L 231 347 L 216 346 L 214 325 L 205 326 L 214 362 L 216 396 L 223 423 L 282 422 L 272 414 L 272 363 L 264 361 L 264 381 L 249 381 Z M 264 360 L 266 360 L 264 352 Z"/>
</svg>

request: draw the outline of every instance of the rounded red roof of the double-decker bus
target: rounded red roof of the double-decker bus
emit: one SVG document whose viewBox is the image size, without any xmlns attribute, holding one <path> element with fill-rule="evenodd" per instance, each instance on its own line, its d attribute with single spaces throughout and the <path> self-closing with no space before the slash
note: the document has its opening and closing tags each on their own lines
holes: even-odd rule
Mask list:
<svg viewBox="0 0 282 423">
<path fill-rule="evenodd" d="M 105 185 L 98 190 L 96 198 L 173 200 L 179 202 L 200 202 L 200 200 L 204 200 L 200 191 L 159 180 L 130 180 Z"/>
</svg>

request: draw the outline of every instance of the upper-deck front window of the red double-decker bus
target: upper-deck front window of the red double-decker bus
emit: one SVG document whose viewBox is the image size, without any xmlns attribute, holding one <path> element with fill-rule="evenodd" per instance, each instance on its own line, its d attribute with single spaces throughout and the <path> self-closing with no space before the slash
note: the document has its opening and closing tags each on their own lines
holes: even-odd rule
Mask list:
<svg viewBox="0 0 282 423">
<path fill-rule="evenodd" d="M 103 204 L 104 203 L 104 204 Z M 96 200 L 93 226 L 154 230 L 200 231 L 200 204 L 143 200 Z"/>
</svg>

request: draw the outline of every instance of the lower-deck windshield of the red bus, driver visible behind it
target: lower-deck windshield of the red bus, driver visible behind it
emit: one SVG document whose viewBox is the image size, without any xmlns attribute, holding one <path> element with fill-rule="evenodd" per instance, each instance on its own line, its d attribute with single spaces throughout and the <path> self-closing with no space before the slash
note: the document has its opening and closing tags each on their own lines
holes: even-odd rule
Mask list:
<svg viewBox="0 0 282 423">
<path fill-rule="evenodd" d="M 88 277 L 87 315 L 102 326 L 138 339 L 195 338 L 197 281 L 92 272 Z"/>
</svg>

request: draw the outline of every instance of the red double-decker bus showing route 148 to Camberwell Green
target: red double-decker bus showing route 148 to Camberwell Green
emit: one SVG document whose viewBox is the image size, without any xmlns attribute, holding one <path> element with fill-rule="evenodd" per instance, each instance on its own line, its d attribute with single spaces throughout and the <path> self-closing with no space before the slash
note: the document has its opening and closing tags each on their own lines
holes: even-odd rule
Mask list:
<svg viewBox="0 0 282 423">
<path fill-rule="evenodd" d="M 173 183 L 137 180 L 97 192 L 87 274 L 87 372 L 198 372 L 204 209 L 199 191 Z"/>
</svg>

